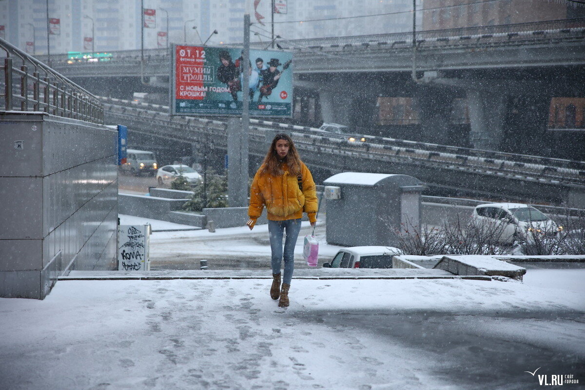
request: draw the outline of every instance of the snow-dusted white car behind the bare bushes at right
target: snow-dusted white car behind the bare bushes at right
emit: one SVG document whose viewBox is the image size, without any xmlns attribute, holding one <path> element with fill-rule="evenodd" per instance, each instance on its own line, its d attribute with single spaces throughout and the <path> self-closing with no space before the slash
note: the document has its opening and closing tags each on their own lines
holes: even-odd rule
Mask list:
<svg viewBox="0 0 585 390">
<path fill-rule="evenodd" d="M 494 224 L 495 230 L 501 230 L 500 241 L 503 243 L 534 243 L 537 234 L 541 238 L 555 237 L 563 230 L 562 226 L 558 226 L 538 209 L 524 203 L 477 205 L 473 210 L 473 218 Z"/>
</svg>

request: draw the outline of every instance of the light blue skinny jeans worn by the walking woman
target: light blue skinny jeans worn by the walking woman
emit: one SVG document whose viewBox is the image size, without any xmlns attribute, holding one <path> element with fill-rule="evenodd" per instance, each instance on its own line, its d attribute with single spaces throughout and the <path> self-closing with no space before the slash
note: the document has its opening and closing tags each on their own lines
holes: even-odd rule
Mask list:
<svg viewBox="0 0 585 390">
<path fill-rule="evenodd" d="M 283 232 L 285 229 L 287 230 L 287 238 L 284 241 L 283 283 L 290 284 L 292 271 L 294 271 L 294 247 L 297 244 L 298 232 L 301 230 L 301 219 L 268 221 L 273 274 L 280 274 L 280 264 L 283 260 Z"/>
</svg>

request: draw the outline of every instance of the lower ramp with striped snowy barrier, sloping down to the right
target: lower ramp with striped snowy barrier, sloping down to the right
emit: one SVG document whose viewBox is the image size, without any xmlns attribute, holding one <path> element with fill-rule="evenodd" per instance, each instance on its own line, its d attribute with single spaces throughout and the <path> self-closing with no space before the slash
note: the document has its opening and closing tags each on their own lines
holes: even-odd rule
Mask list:
<svg viewBox="0 0 585 390">
<path fill-rule="evenodd" d="M 131 131 L 188 143 L 198 142 L 207 133 L 214 137 L 216 147 L 226 148 L 223 120 L 171 117 L 167 106 L 102 99 L 110 119 L 128 124 Z M 476 181 L 478 188 L 491 187 L 486 190 L 491 196 L 517 192 L 516 199 L 541 196 L 556 202 L 562 199 L 560 194 L 564 190 L 583 192 L 585 189 L 583 161 L 513 156 L 383 137 L 371 137 L 364 143 L 351 142 L 346 137 L 311 127 L 258 119 L 251 119 L 250 124 L 250 154 L 263 156 L 266 132 L 284 130 L 295 133 L 295 143 L 305 151 L 305 160 L 332 172 L 362 168 L 397 172 L 409 167 L 418 171 L 421 180 L 438 187 L 465 188 Z M 546 188 L 546 194 L 531 195 L 531 188 L 536 187 Z"/>
</svg>

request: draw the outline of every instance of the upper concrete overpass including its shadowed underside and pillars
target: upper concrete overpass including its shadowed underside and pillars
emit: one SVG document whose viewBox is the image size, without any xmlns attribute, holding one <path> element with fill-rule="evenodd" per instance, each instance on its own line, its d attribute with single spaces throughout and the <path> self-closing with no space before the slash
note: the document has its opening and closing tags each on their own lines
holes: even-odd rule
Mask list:
<svg viewBox="0 0 585 390">
<path fill-rule="evenodd" d="M 408 32 L 281 40 L 283 49 L 294 51 L 295 94 L 314 96 L 307 103 L 314 118 L 295 116 L 295 123 L 377 126 L 378 133 L 392 134 L 404 126 L 378 126 L 377 98 L 407 97 L 417 101 L 414 131 L 421 140 L 514 150 L 516 139 L 546 132 L 553 96 L 585 98 L 585 18 L 424 31 L 415 46 L 412 42 Z M 168 94 L 168 50 L 145 50 L 143 64 L 139 50 L 112 54 L 112 61 L 75 64 L 63 54 L 52 63 L 95 94 L 124 99 L 134 91 Z M 450 119 L 457 99 L 464 99 L 469 113 L 463 130 L 454 130 Z M 528 153 L 543 150 L 536 140 L 525 147 Z"/>
</svg>

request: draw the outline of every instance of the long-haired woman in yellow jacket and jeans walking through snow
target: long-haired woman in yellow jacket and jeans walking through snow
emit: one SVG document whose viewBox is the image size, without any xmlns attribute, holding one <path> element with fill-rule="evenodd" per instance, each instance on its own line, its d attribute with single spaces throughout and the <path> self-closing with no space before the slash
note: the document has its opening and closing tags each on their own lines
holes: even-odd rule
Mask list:
<svg viewBox="0 0 585 390">
<path fill-rule="evenodd" d="M 298 155 L 291 137 L 276 134 L 250 187 L 250 206 L 246 223 L 250 230 L 266 206 L 268 232 L 272 251 L 272 287 L 270 297 L 280 298 L 278 306 L 288 306 L 288 289 L 294 271 L 294 247 L 301 230 L 302 213 L 307 213 L 311 226 L 315 226 L 317 196 L 315 182 L 307 165 Z M 283 232 L 287 237 L 284 242 Z M 283 285 L 280 285 L 280 265 L 284 254 Z"/>
</svg>

